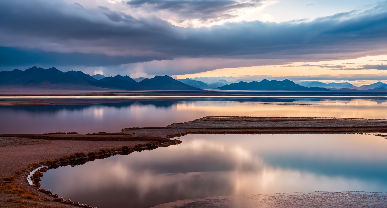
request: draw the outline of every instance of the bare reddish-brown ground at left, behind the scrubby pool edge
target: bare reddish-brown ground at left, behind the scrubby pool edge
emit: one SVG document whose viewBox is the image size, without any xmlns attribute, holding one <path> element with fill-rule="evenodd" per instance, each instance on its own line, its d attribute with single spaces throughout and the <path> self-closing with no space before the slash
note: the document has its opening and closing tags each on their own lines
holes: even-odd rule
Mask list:
<svg viewBox="0 0 387 208">
<path fill-rule="evenodd" d="M 42 162 L 49 159 L 69 156 L 77 152 L 93 152 L 99 149 L 112 149 L 122 146 L 134 147 L 147 141 L 76 141 L 76 140 L 39 140 L 0 137 L 0 177 L 14 175 L 17 170 L 26 167 L 30 163 Z M 36 191 L 27 184 L 27 180 L 17 179 L 23 187 L 33 192 L 41 199 L 51 199 L 42 192 Z M 18 199 L 26 203 L 7 202 L 10 199 Z M 6 201 L 6 202 L 4 202 Z M 0 207 L 74 207 L 53 201 L 32 201 L 22 199 L 16 194 L 0 192 Z"/>
</svg>

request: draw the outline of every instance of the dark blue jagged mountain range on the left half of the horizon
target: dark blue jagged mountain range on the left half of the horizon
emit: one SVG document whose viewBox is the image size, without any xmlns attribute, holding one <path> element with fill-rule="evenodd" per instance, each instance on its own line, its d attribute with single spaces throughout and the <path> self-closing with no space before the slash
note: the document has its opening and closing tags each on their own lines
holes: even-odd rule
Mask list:
<svg viewBox="0 0 387 208">
<path fill-rule="evenodd" d="M 62 72 L 57 68 L 43 69 L 36 66 L 25 71 L 19 69 L 1 71 L 0 86 L 50 89 L 202 90 L 167 75 L 137 82 L 129 76 L 90 76 L 82 71 Z"/>
</svg>

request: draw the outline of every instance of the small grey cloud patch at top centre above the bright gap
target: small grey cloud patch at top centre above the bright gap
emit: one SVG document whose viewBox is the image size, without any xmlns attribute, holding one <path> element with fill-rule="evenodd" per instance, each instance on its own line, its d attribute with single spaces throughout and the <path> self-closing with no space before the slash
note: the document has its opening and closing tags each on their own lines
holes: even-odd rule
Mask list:
<svg viewBox="0 0 387 208">
<path fill-rule="evenodd" d="M 229 19 L 238 15 L 233 11 L 241 8 L 258 7 L 261 0 L 238 2 L 235 0 L 130 0 L 131 7 L 149 10 L 167 10 L 185 19 L 199 19 L 202 22 Z"/>
</svg>

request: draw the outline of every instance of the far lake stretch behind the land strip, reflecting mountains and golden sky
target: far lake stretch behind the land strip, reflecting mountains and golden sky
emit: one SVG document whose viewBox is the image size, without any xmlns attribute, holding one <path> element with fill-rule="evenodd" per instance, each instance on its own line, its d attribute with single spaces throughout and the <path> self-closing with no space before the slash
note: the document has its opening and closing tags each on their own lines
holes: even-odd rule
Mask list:
<svg viewBox="0 0 387 208">
<path fill-rule="evenodd" d="M 128 127 L 164 127 L 203 116 L 387 119 L 386 101 L 385 98 L 192 98 L 0 106 L 0 133 L 120 132 Z"/>
</svg>

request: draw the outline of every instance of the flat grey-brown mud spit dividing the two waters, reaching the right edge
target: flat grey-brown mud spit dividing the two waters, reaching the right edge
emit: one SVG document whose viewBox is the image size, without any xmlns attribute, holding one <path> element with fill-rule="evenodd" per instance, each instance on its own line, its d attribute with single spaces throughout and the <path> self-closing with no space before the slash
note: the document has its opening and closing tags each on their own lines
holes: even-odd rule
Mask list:
<svg viewBox="0 0 387 208">
<path fill-rule="evenodd" d="M 164 129 L 125 128 L 122 133 L 168 136 L 172 130 L 180 134 L 195 133 L 345 133 L 386 132 L 387 120 L 361 118 L 282 118 L 206 116 L 185 123 L 173 123 Z"/>
</svg>

